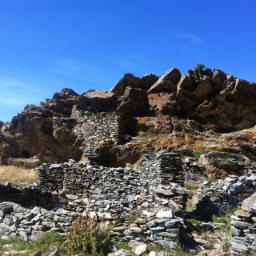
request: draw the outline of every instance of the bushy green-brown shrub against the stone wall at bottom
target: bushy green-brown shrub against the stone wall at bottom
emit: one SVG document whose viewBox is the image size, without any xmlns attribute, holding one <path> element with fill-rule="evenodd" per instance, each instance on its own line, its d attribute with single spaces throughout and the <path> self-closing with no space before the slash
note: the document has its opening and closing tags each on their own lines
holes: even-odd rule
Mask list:
<svg viewBox="0 0 256 256">
<path fill-rule="evenodd" d="M 110 228 L 103 222 L 82 217 L 66 233 L 68 255 L 107 255 L 110 252 Z"/>
</svg>

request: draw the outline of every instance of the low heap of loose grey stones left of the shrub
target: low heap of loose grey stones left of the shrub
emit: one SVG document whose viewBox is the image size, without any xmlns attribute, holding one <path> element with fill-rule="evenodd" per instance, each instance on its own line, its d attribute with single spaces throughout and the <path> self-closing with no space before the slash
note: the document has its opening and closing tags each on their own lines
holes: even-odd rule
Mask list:
<svg viewBox="0 0 256 256">
<path fill-rule="evenodd" d="M 14 202 L 0 203 L 0 236 L 19 236 L 34 240 L 46 231 L 63 233 L 78 214 L 68 210 L 26 209 Z"/>
</svg>

